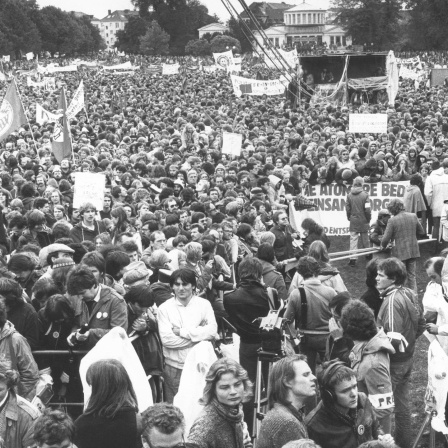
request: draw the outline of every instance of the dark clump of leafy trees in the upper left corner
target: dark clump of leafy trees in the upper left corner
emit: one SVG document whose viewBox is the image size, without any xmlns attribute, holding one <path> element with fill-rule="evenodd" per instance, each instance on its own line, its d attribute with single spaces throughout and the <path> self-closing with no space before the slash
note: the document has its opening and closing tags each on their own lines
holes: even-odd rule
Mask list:
<svg viewBox="0 0 448 448">
<path fill-rule="evenodd" d="M 0 0 L 0 55 L 20 58 L 28 52 L 73 55 L 105 48 L 88 16 L 77 17 L 36 0 Z"/>
</svg>

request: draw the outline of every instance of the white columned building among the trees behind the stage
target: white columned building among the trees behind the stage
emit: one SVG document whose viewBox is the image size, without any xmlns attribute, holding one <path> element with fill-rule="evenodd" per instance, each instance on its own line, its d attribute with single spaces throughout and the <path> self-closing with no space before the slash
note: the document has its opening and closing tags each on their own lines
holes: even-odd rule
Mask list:
<svg viewBox="0 0 448 448">
<path fill-rule="evenodd" d="M 344 49 L 352 44 L 351 37 L 334 23 L 332 10 L 319 8 L 305 0 L 283 12 L 283 25 L 274 25 L 264 32 L 276 47 L 293 47 L 297 43 L 326 43 L 328 49 Z M 259 45 L 264 45 L 260 33 L 254 33 Z"/>
</svg>

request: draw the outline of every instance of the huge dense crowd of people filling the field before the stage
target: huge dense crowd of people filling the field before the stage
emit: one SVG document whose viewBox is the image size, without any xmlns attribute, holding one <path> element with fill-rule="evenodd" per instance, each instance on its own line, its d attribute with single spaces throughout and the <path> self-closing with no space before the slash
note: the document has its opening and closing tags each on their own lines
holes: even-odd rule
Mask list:
<svg viewBox="0 0 448 448">
<path fill-rule="evenodd" d="M 245 76 L 260 70 L 275 76 L 243 58 Z M 185 73 L 57 74 L 68 101 L 81 80 L 86 98 L 61 161 L 54 123 L 34 116 L 36 104 L 57 113 L 59 91 L 17 77 L 29 122 L 0 144 L 0 446 L 410 448 L 416 340 L 427 329 L 448 350 L 445 258 L 426 263 L 423 301 L 415 281 L 417 238 L 432 233 L 436 255 L 448 242 L 446 89 L 403 81 L 391 106 L 310 106 L 238 98 L 224 70 Z M 387 113 L 388 132 L 350 133 L 349 114 L 365 111 Z M 222 153 L 223 132 L 243 135 L 239 157 Z M 73 206 L 76 172 L 104 174 L 101 209 Z M 410 181 L 405 197 L 371 223 L 365 183 L 398 180 Z M 324 228 L 290 226 L 290 202 L 333 182 L 347 190 L 350 251 L 381 250 L 359 299 Z M 300 344 L 269 378 L 263 369 L 268 412 L 254 425 L 258 351 L 277 343 L 257 319 L 281 304 Z M 133 338 L 156 404 L 140 413 L 128 372 L 106 359 L 88 369 L 84 410 L 64 406 L 83 401 L 73 350 L 114 327 Z M 220 352 L 229 329 L 239 362 L 207 369 L 186 431 L 173 405 L 184 364 L 201 342 Z M 54 396 L 42 413 L 31 401 L 48 404 L 45 375 Z"/>
</svg>

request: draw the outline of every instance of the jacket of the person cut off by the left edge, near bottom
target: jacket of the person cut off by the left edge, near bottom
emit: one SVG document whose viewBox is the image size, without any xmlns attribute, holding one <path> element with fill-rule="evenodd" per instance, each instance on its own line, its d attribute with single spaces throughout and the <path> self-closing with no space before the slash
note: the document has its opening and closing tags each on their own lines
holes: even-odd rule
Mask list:
<svg viewBox="0 0 448 448">
<path fill-rule="evenodd" d="M 0 353 L 19 372 L 19 395 L 31 401 L 36 393 L 39 371 L 27 340 L 17 333 L 9 321 L 0 331 Z"/>
</svg>

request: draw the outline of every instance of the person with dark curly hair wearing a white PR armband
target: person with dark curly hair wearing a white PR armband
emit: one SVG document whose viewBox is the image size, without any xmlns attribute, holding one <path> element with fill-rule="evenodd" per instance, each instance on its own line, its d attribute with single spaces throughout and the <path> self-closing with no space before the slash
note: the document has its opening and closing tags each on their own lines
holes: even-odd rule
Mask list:
<svg viewBox="0 0 448 448">
<path fill-rule="evenodd" d="M 352 300 L 342 308 L 340 323 L 344 336 L 355 344 L 350 359 L 358 390 L 369 397 L 383 431 L 390 434 L 394 399 L 389 355 L 395 349 L 384 330 L 377 328 L 373 311 L 361 300 Z"/>
</svg>

